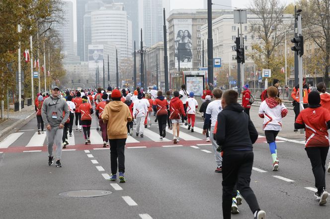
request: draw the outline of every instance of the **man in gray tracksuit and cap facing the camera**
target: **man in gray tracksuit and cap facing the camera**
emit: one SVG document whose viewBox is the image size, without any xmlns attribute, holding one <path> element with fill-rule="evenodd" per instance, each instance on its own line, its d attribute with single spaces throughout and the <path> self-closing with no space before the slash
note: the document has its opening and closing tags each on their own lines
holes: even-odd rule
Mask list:
<svg viewBox="0 0 330 219">
<path fill-rule="evenodd" d="M 52 88 L 52 95 L 44 100 L 41 116 L 46 126 L 48 165 L 54 162 L 53 144 L 56 144 L 56 166 L 62 167 L 60 162 L 62 155 L 63 127 L 68 120 L 70 110 L 68 104 L 59 95 L 60 89 L 57 86 Z M 63 112 L 65 114 L 63 115 Z"/>
</svg>

